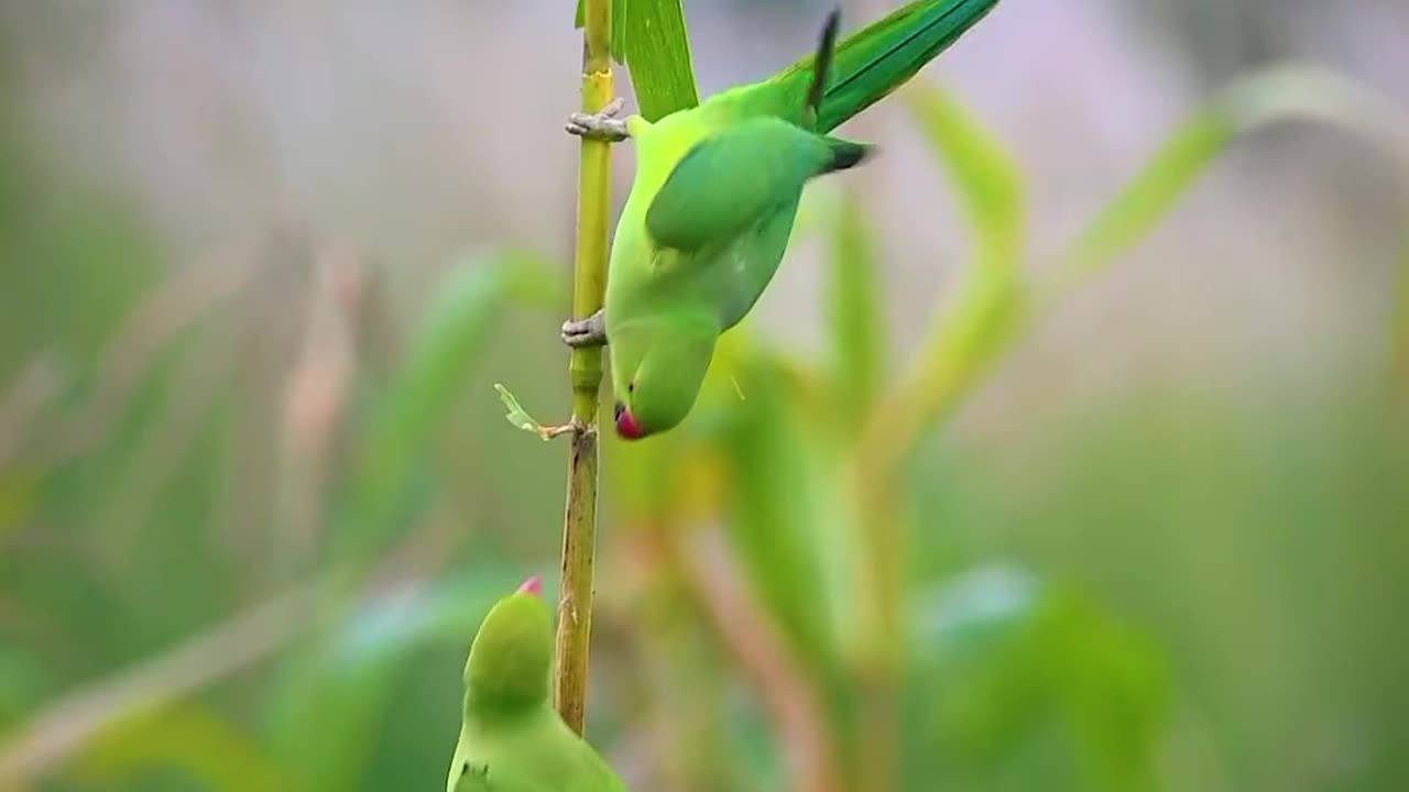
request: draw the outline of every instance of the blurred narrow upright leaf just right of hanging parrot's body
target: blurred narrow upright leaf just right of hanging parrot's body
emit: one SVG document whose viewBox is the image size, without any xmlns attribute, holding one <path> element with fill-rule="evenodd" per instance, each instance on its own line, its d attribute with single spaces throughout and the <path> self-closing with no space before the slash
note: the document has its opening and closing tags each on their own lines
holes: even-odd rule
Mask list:
<svg viewBox="0 0 1409 792">
<path fill-rule="evenodd" d="M 852 428 L 864 419 L 885 368 L 885 317 L 876 286 L 876 240 L 854 193 L 837 202 L 831 223 L 827 318 L 834 390 Z"/>
</svg>

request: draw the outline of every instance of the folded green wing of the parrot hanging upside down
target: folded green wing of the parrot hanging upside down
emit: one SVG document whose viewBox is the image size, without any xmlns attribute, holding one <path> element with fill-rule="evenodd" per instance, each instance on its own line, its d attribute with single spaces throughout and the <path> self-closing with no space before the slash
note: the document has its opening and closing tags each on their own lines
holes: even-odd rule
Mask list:
<svg viewBox="0 0 1409 792">
<path fill-rule="evenodd" d="M 682 251 L 738 237 L 768 210 L 797 199 L 820 173 L 851 168 L 868 147 L 761 117 L 695 144 L 645 210 L 657 245 Z"/>
</svg>

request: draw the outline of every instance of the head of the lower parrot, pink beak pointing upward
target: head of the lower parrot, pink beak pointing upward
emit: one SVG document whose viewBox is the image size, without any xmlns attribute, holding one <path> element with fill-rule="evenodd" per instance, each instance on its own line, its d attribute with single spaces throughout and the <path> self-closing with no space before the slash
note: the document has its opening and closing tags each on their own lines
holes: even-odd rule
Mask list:
<svg viewBox="0 0 1409 792">
<path fill-rule="evenodd" d="M 548 700 L 552 617 L 541 592 L 542 582 L 528 578 L 489 610 L 465 664 L 466 707 L 503 710 Z"/>
</svg>

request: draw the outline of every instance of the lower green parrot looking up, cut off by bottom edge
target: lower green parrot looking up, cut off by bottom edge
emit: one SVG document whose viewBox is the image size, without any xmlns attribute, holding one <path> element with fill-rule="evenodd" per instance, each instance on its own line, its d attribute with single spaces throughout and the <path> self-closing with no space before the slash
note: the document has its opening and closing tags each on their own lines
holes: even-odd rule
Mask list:
<svg viewBox="0 0 1409 792">
<path fill-rule="evenodd" d="M 627 792 L 548 703 L 552 619 L 530 578 L 485 617 L 445 792 Z"/>
</svg>

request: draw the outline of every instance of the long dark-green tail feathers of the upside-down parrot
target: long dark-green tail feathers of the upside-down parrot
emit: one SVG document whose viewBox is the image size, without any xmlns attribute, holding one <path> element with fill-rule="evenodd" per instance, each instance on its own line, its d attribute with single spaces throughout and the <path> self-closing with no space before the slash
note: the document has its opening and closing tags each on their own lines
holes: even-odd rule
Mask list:
<svg viewBox="0 0 1409 792">
<path fill-rule="evenodd" d="M 793 97 L 802 94 L 803 86 L 814 90 L 823 85 L 814 128 L 828 132 L 905 85 L 998 3 L 916 0 L 844 38 L 830 61 L 807 56 L 781 72 L 775 80 L 796 86 L 790 89 L 796 92 Z M 814 69 L 817 65 L 821 69 Z M 828 70 L 830 82 L 826 79 Z"/>
</svg>

